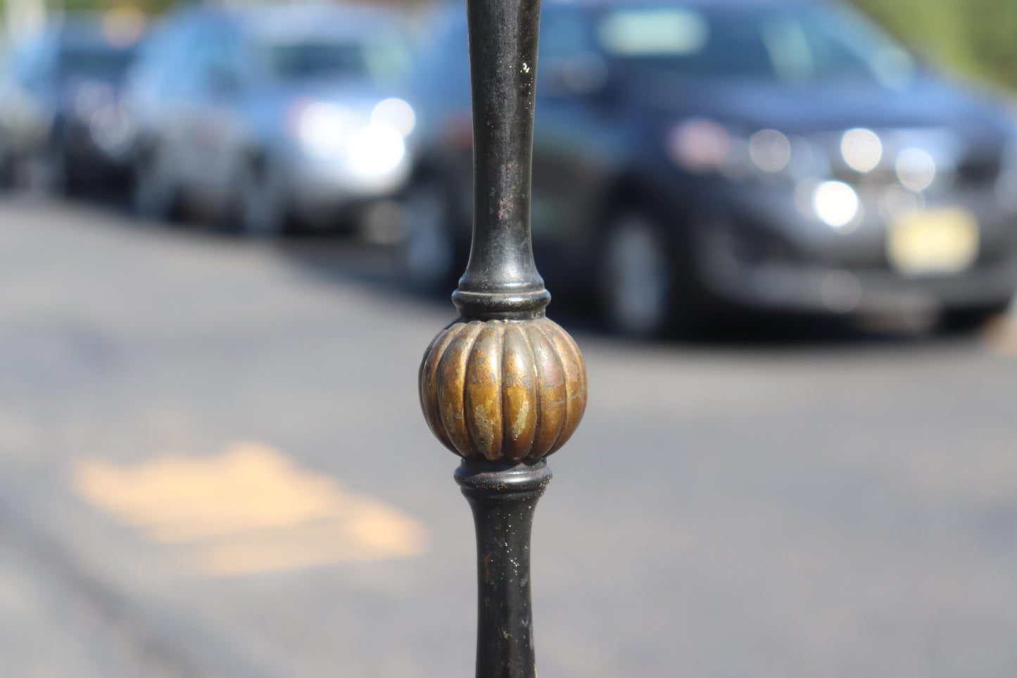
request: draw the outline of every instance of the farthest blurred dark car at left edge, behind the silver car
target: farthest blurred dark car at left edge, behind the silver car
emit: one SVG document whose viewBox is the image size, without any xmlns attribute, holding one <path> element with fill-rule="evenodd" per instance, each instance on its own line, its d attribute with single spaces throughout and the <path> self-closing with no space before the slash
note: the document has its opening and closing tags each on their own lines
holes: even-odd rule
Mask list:
<svg viewBox="0 0 1017 678">
<path fill-rule="evenodd" d="M 44 192 L 122 181 L 133 124 L 120 102 L 144 27 L 136 12 L 75 13 L 15 45 L 0 75 L 0 170 Z"/>
</svg>

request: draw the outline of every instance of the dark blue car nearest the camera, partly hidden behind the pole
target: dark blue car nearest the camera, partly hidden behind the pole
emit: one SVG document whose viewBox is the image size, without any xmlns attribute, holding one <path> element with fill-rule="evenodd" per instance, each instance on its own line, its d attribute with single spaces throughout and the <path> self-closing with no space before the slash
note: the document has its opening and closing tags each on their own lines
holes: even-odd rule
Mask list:
<svg viewBox="0 0 1017 678">
<path fill-rule="evenodd" d="M 465 12 L 420 59 L 406 277 L 462 270 L 471 217 Z M 547 2 L 533 236 L 556 293 L 633 335 L 729 309 L 945 312 L 1015 286 L 1017 138 L 832 2 Z"/>
</svg>

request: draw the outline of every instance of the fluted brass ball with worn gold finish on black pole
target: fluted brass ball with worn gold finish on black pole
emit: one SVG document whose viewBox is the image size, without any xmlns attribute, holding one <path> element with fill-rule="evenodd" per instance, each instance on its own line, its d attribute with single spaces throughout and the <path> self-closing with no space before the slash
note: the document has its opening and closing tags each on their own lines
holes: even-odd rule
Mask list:
<svg viewBox="0 0 1017 678">
<path fill-rule="evenodd" d="M 533 462 L 564 445 L 583 418 L 586 365 L 547 318 L 459 320 L 424 354 L 420 403 L 456 454 Z"/>
</svg>

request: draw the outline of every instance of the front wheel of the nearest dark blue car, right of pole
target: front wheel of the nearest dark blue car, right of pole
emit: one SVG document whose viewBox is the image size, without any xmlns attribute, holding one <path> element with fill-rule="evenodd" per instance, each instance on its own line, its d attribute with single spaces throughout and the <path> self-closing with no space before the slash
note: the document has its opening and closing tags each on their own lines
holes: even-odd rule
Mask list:
<svg viewBox="0 0 1017 678">
<path fill-rule="evenodd" d="M 672 262 L 663 229 L 641 212 L 608 223 L 601 250 L 600 306 L 610 328 L 639 338 L 660 336 L 672 321 Z"/>
</svg>

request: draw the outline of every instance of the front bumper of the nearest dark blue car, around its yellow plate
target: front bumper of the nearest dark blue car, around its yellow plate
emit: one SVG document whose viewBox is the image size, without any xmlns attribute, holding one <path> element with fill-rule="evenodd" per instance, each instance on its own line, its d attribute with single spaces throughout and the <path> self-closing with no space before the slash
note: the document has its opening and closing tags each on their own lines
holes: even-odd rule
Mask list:
<svg viewBox="0 0 1017 678">
<path fill-rule="evenodd" d="M 758 309 L 896 314 L 995 305 L 1017 288 L 1017 218 L 991 191 L 958 191 L 923 207 L 963 209 L 980 240 L 962 270 L 919 275 L 890 263 L 893 219 L 875 201 L 862 202 L 864 217 L 843 233 L 811 219 L 788 193 L 742 191 L 730 212 L 695 229 L 704 292 Z"/>
</svg>

